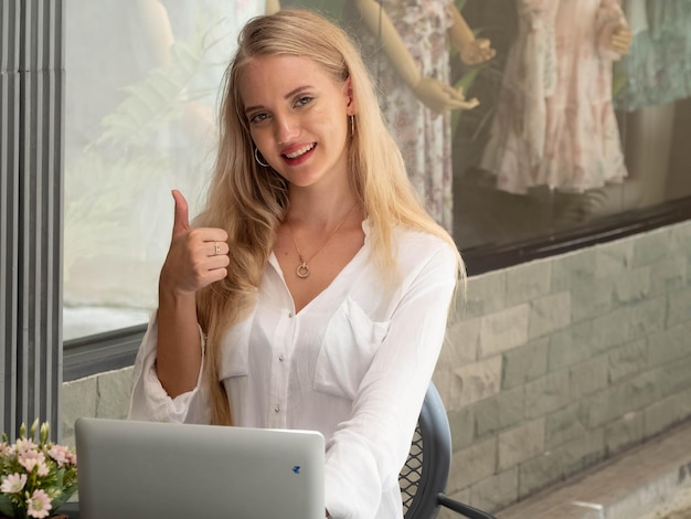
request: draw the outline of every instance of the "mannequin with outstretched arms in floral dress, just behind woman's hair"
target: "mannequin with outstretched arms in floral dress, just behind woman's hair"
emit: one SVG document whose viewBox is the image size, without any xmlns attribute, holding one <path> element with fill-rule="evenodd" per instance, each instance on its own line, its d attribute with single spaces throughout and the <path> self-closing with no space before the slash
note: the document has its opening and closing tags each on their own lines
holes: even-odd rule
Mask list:
<svg viewBox="0 0 691 519">
<path fill-rule="evenodd" d="M 453 227 L 450 110 L 472 109 L 450 82 L 450 49 L 476 65 L 495 56 L 489 40 L 476 39 L 451 0 L 351 0 L 346 18 L 369 55 L 382 105 L 427 210 Z M 360 21 L 364 22 L 359 23 Z M 362 31 L 362 25 L 366 31 Z M 381 52 L 378 52 L 381 51 Z"/>
</svg>

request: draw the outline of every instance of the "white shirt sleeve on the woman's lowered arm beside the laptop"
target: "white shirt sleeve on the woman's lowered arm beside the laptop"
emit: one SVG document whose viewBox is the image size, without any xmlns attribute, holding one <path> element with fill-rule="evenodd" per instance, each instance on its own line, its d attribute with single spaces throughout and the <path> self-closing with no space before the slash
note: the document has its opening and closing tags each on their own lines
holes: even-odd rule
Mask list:
<svg viewBox="0 0 691 519">
<path fill-rule="evenodd" d="M 327 443 L 326 501 L 331 517 L 375 517 L 382 494 L 397 491 L 422 403 L 446 332 L 456 287 L 446 244 L 405 282 L 355 396 L 349 420 Z"/>
</svg>

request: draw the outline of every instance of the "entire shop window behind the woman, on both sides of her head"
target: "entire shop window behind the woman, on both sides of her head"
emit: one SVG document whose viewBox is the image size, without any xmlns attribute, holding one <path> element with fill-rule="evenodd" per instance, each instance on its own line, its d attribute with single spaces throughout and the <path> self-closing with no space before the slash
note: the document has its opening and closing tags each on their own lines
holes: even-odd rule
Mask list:
<svg viewBox="0 0 691 519">
<path fill-rule="evenodd" d="M 238 29 L 265 2 L 67 6 L 71 339 L 145 322 L 156 306 L 170 190 L 194 214 L 221 77 Z M 280 6 L 322 11 L 357 40 L 411 179 L 461 252 L 691 197 L 689 0 Z M 405 60 L 419 77 L 401 74 Z M 463 92 L 461 108 L 438 109 L 443 84 L 456 91 L 451 104 Z"/>
</svg>

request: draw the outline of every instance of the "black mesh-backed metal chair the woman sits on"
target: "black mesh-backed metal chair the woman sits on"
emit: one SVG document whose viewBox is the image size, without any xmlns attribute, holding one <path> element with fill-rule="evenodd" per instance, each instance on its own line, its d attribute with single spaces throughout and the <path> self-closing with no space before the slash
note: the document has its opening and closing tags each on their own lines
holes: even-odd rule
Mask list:
<svg viewBox="0 0 691 519">
<path fill-rule="evenodd" d="M 444 495 L 450 467 L 451 432 L 448 416 L 439 392 L 429 383 L 411 454 L 398 477 L 405 519 L 434 519 L 440 507 L 470 519 L 496 519 Z"/>
</svg>

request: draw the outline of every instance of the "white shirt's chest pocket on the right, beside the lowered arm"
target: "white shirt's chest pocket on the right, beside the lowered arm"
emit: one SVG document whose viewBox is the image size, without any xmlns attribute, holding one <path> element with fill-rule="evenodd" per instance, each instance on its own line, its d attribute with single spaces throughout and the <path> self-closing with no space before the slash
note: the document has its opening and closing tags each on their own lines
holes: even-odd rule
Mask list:
<svg viewBox="0 0 691 519">
<path fill-rule="evenodd" d="M 352 400 L 390 321 L 373 321 L 348 298 L 329 320 L 315 368 L 315 390 Z"/>
</svg>

